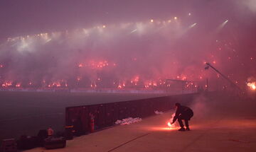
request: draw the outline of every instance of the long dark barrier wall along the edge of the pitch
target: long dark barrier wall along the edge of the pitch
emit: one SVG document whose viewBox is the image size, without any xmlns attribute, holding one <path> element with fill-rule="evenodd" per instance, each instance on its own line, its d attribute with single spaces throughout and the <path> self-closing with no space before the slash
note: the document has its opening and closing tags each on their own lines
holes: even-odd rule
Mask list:
<svg viewBox="0 0 256 152">
<path fill-rule="evenodd" d="M 117 119 L 127 117 L 149 117 L 154 111 L 174 110 L 175 103 L 189 105 L 196 94 L 173 95 L 159 98 L 131 100 L 118 103 L 66 107 L 65 124 L 72 125 L 75 135 L 90 131 L 90 119 L 93 115 L 95 130 L 114 125 Z"/>
</svg>

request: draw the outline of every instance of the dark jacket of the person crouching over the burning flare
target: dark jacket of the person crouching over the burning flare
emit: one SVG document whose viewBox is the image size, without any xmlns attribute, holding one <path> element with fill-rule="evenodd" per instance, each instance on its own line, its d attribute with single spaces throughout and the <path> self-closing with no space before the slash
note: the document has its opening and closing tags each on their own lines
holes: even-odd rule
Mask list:
<svg viewBox="0 0 256 152">
<path fill-rule="evenodd" d="M 178 119 L 178 117 L 180 117 L 181 119 L 190 120 L 191 117 L 193 117 L 193 110 L 191 110 L 191 108 L 183 106 L 183 105 L 178 106 L 176 109 L 176 113 L 175 113 L 173 122 L 175 122 L 176 119 Z"/>
</svg>

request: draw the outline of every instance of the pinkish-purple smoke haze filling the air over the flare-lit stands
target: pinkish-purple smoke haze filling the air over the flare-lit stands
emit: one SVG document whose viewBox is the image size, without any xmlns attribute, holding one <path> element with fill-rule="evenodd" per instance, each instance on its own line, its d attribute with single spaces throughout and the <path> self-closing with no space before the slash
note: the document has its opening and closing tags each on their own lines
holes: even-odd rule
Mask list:
<svg viewBox="0 0 256 152">
<path fill-rule="evenodd" d="M 255 1 L 41 1 L 36 14 L 19 3 L 0 11 L 1 88 L 225 88 L 208 63 L 255 89 Z"/>
</svg>

